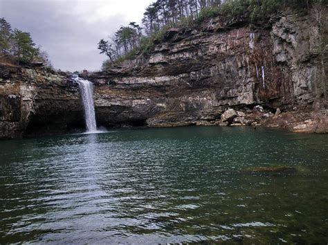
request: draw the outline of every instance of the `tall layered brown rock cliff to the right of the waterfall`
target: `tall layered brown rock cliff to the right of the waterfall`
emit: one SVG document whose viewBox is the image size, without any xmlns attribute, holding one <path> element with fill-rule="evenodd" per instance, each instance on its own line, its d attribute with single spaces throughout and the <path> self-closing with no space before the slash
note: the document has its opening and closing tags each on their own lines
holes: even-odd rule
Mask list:
<svg viewBox="0 0 328 245">
<path fill-rule="evenodd" d="M 229 106 L 291 110 L 325 104 L 327 30 L 319 30 L 316 10 L 281 14 L 268 29 L 235 24 L 223 28 L 212 19 L 201 30 L 170 30 L 147 61 L 90 77 L 100 84 L 98 120 L 158 126 L 219 119 Z"/>
</svg>

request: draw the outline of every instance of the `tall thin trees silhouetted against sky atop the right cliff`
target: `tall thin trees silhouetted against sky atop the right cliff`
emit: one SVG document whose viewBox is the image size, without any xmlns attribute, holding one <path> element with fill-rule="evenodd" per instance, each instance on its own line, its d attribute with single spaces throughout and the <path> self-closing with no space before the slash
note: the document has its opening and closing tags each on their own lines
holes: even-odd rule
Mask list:
<svg viewBox="0 0 328 245">
<path fill-rule="evenodd" d="M 147 50 L 152 46 L 151 39 L 163 34 L 163 28 L 176 27 L 183 19 L 194 20 L 203 9 L 218 7 L 225 2 L 226 0 L 156 0 L 145 9 L 142 26 L 136 22 L 121 26 L 109 39 L 101 39 L 98 49 L 100 54 L 107 55 L 109 63 L 140 47 Z"/>
</svg>

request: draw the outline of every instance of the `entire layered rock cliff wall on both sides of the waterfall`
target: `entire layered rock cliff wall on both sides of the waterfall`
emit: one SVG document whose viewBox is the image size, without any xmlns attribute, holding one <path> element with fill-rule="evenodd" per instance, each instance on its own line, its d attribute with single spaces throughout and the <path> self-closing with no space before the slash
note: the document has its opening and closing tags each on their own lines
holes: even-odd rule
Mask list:
<svg viewBox="0 0 328 245">
<path fill-rule="evenodd" d="M 228 107 L 325 108 L 327 9 L 284 13 L 271 28 L 211 19 L 172 29 L 149 59 L 88 77 L 98 125 L 215 121 Z M 0 138 L 83 127 L 77 86 L 44 68 L 0 67 Z"/>
</svg>

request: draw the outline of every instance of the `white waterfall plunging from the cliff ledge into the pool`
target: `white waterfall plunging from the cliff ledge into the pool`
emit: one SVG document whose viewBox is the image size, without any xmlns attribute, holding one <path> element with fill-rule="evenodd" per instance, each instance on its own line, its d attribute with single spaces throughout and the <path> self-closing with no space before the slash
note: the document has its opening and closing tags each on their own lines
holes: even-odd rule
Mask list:
<svg viewBox="0 0 328 245">
<path fill-rule="evenodd" d="M 95 106 L 93 103 L 93 88 L 91 81 L 82 79 L 77 75 L 73 75 L 73 79 L 79 84 L 81 98 L 84 107 L 84 119 L 87 132 L 96 132 L 95 124 Z"/>
</svg>

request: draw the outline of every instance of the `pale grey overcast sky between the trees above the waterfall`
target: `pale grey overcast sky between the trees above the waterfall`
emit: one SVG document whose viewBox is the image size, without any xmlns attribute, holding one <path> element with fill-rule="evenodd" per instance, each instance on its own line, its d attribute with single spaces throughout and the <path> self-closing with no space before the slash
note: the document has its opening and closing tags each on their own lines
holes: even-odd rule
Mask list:
<svg viewBox="0 0 328 245">
<path fill-rule="evenodd" d="M 0 0 L 0 17 L 30 32 L 55 68 L 99 70 L 97 43 L 122 25 L 140 23 L 154 0 Z"/>
</svg>

